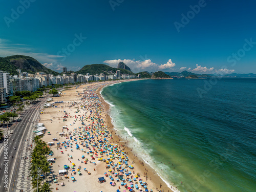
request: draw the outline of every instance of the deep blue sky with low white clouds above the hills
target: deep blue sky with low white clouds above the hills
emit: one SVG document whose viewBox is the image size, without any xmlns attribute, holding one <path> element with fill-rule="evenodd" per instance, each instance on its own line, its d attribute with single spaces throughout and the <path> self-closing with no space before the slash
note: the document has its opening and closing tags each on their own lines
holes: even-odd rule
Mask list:
<svg viewBox="0 0 256 192">
<path fill-rule="evenodd" d="M 256 73 L 252 0 L 0 2 L 2 57 L 55 71 L 124 61 L 134 72 Z"/>
</svg>

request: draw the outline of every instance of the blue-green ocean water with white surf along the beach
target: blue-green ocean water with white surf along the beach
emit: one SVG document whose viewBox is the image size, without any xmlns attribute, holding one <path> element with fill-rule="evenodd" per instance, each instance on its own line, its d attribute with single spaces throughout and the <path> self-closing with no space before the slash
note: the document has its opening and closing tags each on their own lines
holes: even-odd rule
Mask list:
<svg viewBox="0 0 256 192">
<path fill-rule="evenodd" d="M 169 186 L 256 191 L 256 78 L 140 80 L 101 94 L 118 134 Z"/>
</svg>

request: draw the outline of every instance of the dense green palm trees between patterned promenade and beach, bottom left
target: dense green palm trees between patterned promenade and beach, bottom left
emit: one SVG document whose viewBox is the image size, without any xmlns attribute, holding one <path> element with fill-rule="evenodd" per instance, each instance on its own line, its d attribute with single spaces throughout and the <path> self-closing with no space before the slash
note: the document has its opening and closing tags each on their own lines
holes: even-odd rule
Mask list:
<svg viewBox="0 0 256 192">
<path fill-rule="evenodd" d="M 39 136 L 34 138 L 35 148 L 32 153 L 31 167 L 30 167 L 30 177 L 32 177 L 32 187 L 35 191 L 52 191 L 51 185 L 44 182 L 40 175 L 44 175 L 46 181 L 48 181 L 47 176 L 50 174 L 50 167 L 47 161 L 47 155 L 50 153 L 50 148 L 47 143 L 42 141 Z M 37 190 L 38 187 L 38 190 Z"/>
</svg>

